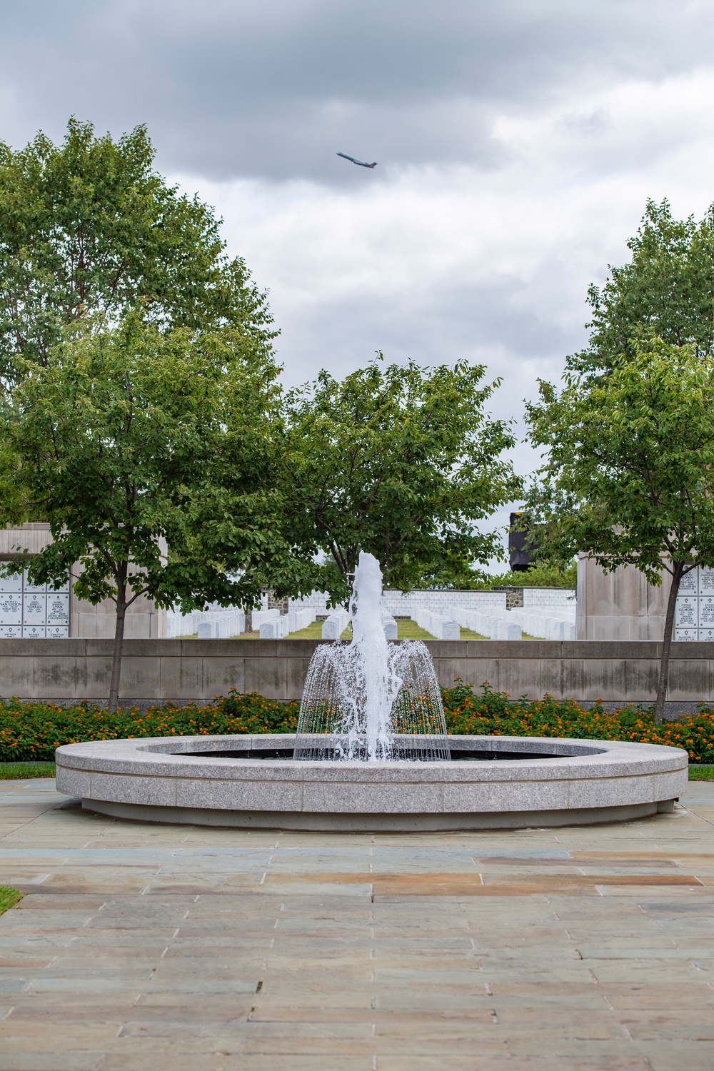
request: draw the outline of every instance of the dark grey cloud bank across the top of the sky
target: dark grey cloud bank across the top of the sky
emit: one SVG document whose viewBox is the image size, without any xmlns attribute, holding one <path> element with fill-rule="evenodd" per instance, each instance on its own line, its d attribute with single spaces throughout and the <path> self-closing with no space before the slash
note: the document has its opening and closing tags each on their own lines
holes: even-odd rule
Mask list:
<svg viewBox="0 0 714 1071">
<path fill-rule="evenodd" d="M 712 12 L 669 0 L 25 0 L 0 3 L 4 136 L 67 116 L 146 121 L 165 169 L 207 178 L 381 181 L 432 162 L 497 166 L 496 108 L 564 80 L 709 62 Z"/>
</svg>

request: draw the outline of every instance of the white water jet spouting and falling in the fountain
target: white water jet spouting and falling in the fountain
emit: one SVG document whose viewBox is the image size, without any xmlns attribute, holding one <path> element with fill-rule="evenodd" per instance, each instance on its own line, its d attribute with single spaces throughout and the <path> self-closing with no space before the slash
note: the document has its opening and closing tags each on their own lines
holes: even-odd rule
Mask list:
<svg viewBox="0 0 714 1071">
<path fill-rule="evenodd" d="M 420 640 L 388 643 L 382 573 L 360 554 L 350 600 L 352 639 L 321 644 L 309 664 L 294 757 L 389 761 L 449 759 L 434 663 Z"/>
</svg>

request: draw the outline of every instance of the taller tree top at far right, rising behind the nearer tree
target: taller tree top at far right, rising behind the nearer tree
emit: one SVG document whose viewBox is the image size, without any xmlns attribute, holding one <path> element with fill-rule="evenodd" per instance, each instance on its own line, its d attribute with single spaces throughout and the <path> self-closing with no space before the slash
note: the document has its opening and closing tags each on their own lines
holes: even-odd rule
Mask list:
<svg viewBox="0 0 714 1071">
<path fill-rule="evenodd" d="M 590 344 L 568 359 L 576 372 L 601 373 L 647 349 L 655 335 L 670 346 L 714 353 L 714 206 L 701 223 L 674 220 L 669 203 L 648 201 L 632 260 L 610 267 L 602 289 L 591 286 Z"/>
</svg>

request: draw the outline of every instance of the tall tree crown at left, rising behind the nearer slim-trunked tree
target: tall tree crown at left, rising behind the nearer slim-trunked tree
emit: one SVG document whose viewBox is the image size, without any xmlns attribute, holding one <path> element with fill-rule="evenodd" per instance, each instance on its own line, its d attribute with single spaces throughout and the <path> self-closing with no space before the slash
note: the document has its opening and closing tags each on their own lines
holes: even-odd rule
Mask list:
<svg viewBox="0 0 714 1071">
<path fill-rule="evenodd" d="M 213 211 L 153 168 L 143 126 L 113 141 L 71 119 L 64 141 L 0 142 L 0 374 L 45 360 L 87 315 L 140 304 L 162 330 L 242 330 L 267 356 L 264 296 L 229 260 Z"/>
</svg>

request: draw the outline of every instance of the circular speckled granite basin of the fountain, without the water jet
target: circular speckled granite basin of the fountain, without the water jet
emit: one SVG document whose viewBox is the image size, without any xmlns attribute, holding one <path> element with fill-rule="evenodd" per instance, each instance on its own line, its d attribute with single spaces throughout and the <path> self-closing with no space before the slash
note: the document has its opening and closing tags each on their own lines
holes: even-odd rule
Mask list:
<svg viewBox="0 0 714 1071">
<path fill-rule="evenodd" d="M 449 737 L 452 761 L 295 761 L 294 736 L 102 740 L 57 749 L 57 787 L 142 821 L 411 831 L 569 826 L 670 811 L 679 748 Z"/>
</svg>

